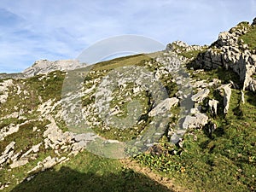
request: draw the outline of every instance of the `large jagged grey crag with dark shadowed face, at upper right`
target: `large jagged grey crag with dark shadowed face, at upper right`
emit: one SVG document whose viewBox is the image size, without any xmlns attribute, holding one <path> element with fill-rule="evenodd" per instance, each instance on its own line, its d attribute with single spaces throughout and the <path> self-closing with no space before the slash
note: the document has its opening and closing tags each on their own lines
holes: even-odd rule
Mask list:
<svg viewBox="0 0 256 192">
<path fill-rule="evenodd" d="M 249 31 L 249 28 L 247 22 L 241 22 L 229 32 L 221 32 L 218 40 L 192 61 L 193 67 L 203 69 L 223 67 L 233 70 L 239 75 L 243 90 L 255 91 L 256 81 L 252 76 L 255 74 L 256 53 L 251 51 L 240 38 Z"/>
</svg>

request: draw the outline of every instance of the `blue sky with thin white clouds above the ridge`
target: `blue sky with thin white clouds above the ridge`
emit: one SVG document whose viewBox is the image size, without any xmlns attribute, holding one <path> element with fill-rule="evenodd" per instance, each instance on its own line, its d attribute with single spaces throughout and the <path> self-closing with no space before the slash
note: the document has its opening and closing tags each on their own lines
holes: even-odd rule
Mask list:
<svg viewBox="0 0 256 192">
<path fill-rule="evenodd" d="M 117 35 L 211 44 L 218 32 L 254 17 L 256 0 L 1 0 L 0 73 L 40 59 L 75 59 Z"/>
</svg>

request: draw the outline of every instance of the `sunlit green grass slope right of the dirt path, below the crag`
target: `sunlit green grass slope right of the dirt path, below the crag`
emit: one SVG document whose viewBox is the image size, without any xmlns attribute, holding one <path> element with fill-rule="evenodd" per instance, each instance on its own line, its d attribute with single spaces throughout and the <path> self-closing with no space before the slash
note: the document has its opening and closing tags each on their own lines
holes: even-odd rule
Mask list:
<svg viewBox="0 0 256 192">
<path fill-rule="evenodd" d="M 196 79 L 229 76 L 215 70 L 196 75 Z M 227 82 L 225 82 L 227 83 Z M 213 92 L 213 90 L 212 90 Z M 211 97 L 216 93 L 212 93 Z M 221 113 L 212 121 L 218 125 L 212 135 L 205 129 L 189 131 L 183 137 L 183 148 L 160 143 L 167 154 L 142 154 L 138 162 L 151 167 L 166 177 L 175 177 L 178 184 L 195 191 L 253 191 L 256 189 L 256 99 L 246 92 L 246 103 L 241 104 L 241 93 L 232 90 L 230 112 L 224 119 Z M 209 116 L 211 116 L 209 114 Z M 177 154 L 173 155 L 176 151 Z"/>
</svg>

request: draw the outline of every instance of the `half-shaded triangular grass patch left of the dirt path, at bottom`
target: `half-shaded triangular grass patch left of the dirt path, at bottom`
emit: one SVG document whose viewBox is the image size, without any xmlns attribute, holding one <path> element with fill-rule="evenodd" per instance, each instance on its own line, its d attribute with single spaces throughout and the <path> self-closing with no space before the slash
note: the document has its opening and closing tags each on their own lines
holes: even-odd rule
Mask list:
<svg viewBox="0 0 256 192">
<path fill-rule="evenodd" d="M 11 191 L 170 192 L 171 190 L 142 173 L 124 168 L 118 160 L 109 160 L 83 152 L 63 165 L 38 173 L 31 181 L 20 183 Z"/>
</svg>

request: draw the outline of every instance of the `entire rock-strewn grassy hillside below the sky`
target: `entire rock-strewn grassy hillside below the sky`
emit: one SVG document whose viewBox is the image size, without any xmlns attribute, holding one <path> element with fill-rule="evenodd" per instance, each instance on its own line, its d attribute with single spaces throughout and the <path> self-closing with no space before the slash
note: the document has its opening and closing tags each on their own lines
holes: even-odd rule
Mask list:
<svg viewBox="0 0 256 192">
<path fill-rule="evenodd" d="M 255 191 L 255 67 L 254 19 L 209 46 L 0 74 L 0 189 Z"/>
</svg>

